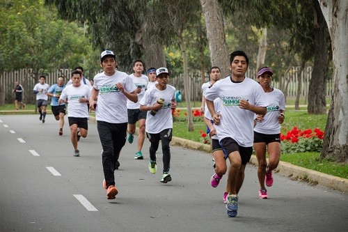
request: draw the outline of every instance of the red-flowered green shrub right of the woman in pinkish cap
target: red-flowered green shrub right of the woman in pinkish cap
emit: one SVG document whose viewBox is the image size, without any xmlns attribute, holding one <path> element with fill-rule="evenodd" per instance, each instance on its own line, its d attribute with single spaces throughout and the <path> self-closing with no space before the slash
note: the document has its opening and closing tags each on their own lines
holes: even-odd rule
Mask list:
<svg viewBox="0 0 348 232">
<path fill-rule="evenodd" d="M 287 134 L 280 134 L 283 153 L 320 152 L 323 146 L 324 132 L 315 130 L 299 130 L 292 128 Z"/>
</svg>

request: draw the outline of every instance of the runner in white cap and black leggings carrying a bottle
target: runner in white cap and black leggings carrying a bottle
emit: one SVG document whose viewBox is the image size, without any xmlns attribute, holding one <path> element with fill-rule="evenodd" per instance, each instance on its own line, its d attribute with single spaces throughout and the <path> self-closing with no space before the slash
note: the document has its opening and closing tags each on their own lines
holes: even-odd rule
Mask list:
<svg viewBox="0 0 348 232">
<path fill-rule="evenodd" d="M 168 84 L 169 72 L 166 68 L 156 70 L 157 84 L 145 92 L 140 101 L 140 110 L 148 111 L 146 116 L 146 135 L 150 140 L 149 170 L 155 174 L 157 171 L 156 152 L 159 141 L 162 144 L 163 173 L 161 183 L 171 181 L 169 168 L 171 167 L 171 148 L 169 143 L 173 134 L 172 109 L 176 108 L 175 88 Z"/>
</svg>

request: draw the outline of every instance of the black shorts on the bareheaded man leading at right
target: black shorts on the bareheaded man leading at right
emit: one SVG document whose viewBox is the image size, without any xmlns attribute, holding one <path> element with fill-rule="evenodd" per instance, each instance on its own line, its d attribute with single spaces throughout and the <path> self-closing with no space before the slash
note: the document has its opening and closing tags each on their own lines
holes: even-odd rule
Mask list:
<svg viewBox="0 0 348 232">
<path fill-rule="evenodd" d="M 227 159 L 230 153 L 238 150 L 243 165 L 247 164 L 250 161 L 251 154 L 253 153 L 252 146 L 239 146 L 235 139 L 229 137 L 221 139 L 220 145 L 223 150 L 223 153 L 225 154 L 225 160 Z"/>
</svg>

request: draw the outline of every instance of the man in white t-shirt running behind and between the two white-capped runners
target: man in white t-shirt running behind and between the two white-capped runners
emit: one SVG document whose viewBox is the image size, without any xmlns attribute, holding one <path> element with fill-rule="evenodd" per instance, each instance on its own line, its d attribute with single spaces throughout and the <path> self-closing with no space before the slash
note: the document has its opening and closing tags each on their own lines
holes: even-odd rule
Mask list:
<svg viewBox="0 0 348 232">
<path fill-rule="evenodd" d="M 136 85 L 135 93 L 138 94 L 138 102 L 134 103 L 131 100 L 127 100 L 127 114 L 128 114 L 128 141 L 132 144 L 134 139 L 134 133 L 136 128 L 136 122 L 139 122 L 139 137 L 138 137 L 138 147 L 134 156 L 136 160 L 143 160 L 143 153 L 141 149 L 145 141 L 145 121 L 146 112 L 140 111 L 139 101 L 143 98 L 143 95 L 148 86 L 148 77 L 143 75 L 144 64 L 141 59 L 137 59 L 133 62 L 134 73 L 129 75 L 132 78 L 133 83 Z"/>
</svg>

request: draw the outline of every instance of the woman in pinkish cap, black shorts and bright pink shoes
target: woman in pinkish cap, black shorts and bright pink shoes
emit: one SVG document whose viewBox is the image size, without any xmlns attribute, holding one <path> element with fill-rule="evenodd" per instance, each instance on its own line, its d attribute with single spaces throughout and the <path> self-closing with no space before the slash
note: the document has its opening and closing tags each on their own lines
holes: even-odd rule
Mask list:
<svg viewBox="0 0 348 232">
<path fill-rule="evenodd" d="M 263 67 L 258 70 L 258 83 L 266 93 L 269 106 L 264 116 L 256 114 L 253 148 L 258 158 L 259 197 L 268 199 L 266 187 L 273 185 L 272 170 L 276 169 L 280 159 L 280 124 L 284 122 L 285 97 L 282 91 L 271 86 L 273 72 Z M 266 160 L 266 146 L 269 162 Z"/>
</svg>

